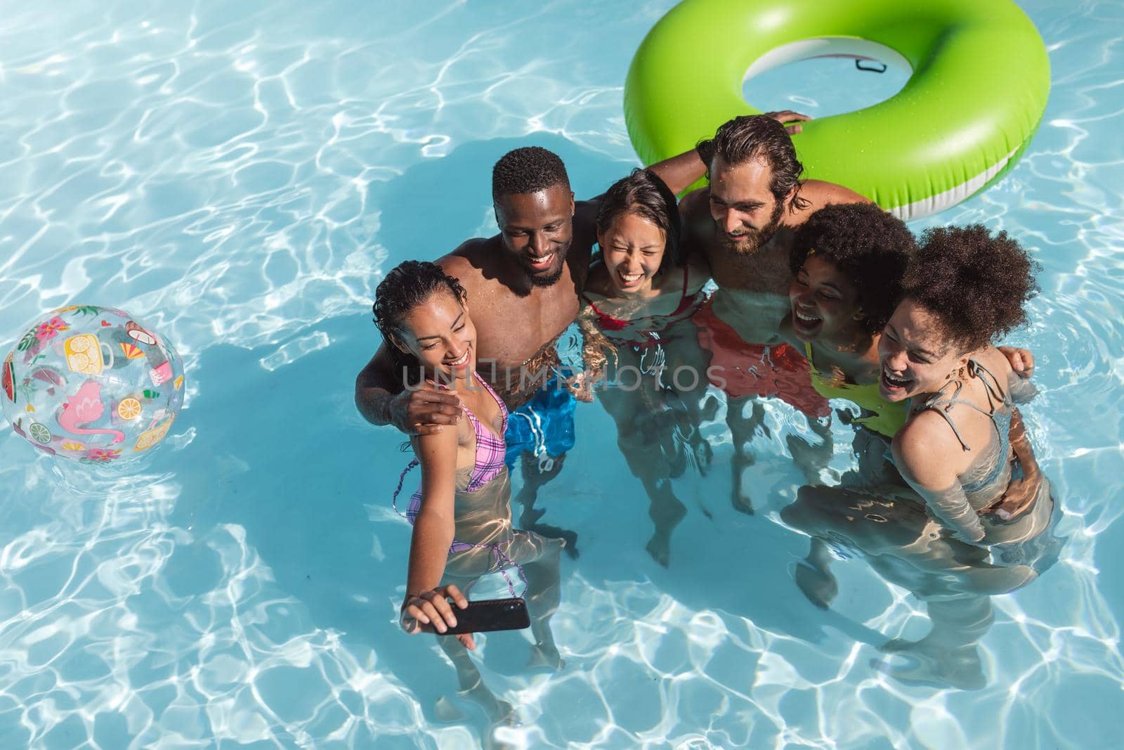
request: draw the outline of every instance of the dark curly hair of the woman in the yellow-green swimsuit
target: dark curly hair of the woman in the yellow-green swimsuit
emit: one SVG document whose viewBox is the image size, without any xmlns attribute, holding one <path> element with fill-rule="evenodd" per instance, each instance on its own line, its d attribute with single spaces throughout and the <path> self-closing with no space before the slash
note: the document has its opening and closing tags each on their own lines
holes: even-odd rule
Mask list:
<svg viewBox="0 0 1124 750">
<path fill-rule="evenodd" d="M 808 217 L 792 238 L 789 268 L 810 253 L 834 263 L 859 295 L 863 328 L 878 333 L 901 297 L 901 277 L 917 243 L 905 222 L 873 204 L 832 204 Z"/>
</svg>

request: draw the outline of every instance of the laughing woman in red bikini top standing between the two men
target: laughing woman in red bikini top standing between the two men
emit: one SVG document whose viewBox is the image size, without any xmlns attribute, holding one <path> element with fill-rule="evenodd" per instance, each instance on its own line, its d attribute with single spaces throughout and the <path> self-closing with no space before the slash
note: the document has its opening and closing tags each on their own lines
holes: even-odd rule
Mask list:
<svg viewBox="0 0 1124 750">
<path fill-rule="evenodd" d="M 698 430 L 706 364 L 689 320 L 706 299 L 709 273 L 680 264 L 679 233 L 676 196 L 651 171 L 635 170 L 605 192 L 597 215 L 601 259 L 590 269 L 579 318 L 586 369 L 575 387 L 580 399 L 592 400 L 605 386 L 600 403 L 616 423 L 617 446 L 650 499 L 655 530 L 645 549 L 663 566 L 672 530 L 687 514 L 671 479 L 705 467 L 710 454 Z"/>
</svg>

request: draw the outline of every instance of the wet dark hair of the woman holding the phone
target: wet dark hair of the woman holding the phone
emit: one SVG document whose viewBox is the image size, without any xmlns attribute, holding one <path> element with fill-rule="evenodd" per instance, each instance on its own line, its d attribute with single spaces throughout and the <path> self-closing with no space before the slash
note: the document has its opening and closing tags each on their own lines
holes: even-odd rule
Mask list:
<svg viewBox="0 0 1124 750">
<path fill-rule="evenodd" d="M 395 363 L 395 377 L 404 386 L 422 379 L 422 363 L 408 352 L 398 349 L 391 338 L 401 338 L 404 320 L 418 305 L 424 305 L 438 291 L 447 291 L 462 305 L 469 295 L 454 277 L 429 261 L 404 261 L 391 269 L 374 290 L 374 325 L 387 342 L 387 351 Z"/>
</svg>

